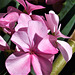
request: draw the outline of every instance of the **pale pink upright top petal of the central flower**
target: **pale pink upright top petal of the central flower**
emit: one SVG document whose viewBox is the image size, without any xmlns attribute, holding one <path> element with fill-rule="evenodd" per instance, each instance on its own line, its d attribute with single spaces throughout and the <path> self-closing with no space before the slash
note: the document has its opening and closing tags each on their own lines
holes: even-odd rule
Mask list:
<svg viewBox="0 0 75 75">
<path fill-rule="evenodd" d="M 40 21 L 29 21 L 28 35 L 31 42 L 35 34 L 42 38 L 45 37 L 47 35 L 47 27 Z"/>
</svg>

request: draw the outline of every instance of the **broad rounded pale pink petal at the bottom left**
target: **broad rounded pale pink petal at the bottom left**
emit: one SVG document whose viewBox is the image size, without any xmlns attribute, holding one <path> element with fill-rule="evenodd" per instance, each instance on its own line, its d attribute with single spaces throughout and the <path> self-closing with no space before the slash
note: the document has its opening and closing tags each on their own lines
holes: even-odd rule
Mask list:
<svg viewBox="0 0 75 75">
<path fill-rule="evenodd" d="M 30 54 L 19 52 L 11 54 L 6 62 L 6 68 L 11 75 L 28 75 L 30 72 Z"/>
</svg>

